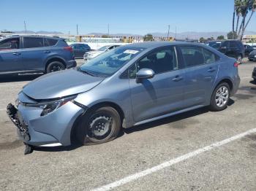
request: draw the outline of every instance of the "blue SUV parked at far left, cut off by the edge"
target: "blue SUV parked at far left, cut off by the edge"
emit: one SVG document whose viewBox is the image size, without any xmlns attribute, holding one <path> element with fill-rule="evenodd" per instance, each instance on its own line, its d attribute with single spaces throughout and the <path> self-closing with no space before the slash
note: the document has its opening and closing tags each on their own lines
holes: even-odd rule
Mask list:
<svg viewBox="0 0 256 191">
<path fill-rule="evenodd" d="M 0 41 L 0 75 L 49 73 L 76 66 L 72 47 L 48 36 L 11 36 Z"/>
</svg>

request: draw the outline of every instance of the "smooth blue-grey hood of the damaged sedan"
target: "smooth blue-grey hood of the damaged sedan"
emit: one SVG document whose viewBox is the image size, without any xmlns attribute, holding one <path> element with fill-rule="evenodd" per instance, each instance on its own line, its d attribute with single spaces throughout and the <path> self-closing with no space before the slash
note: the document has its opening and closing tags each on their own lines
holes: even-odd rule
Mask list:
<svg viewBox="0 0 256 191">
<path fill-rule="evenodd" d="M 103 79 L 76 69 L 56 71 L 34 79 L 23 87 L 23 93 L 36 100 L 61 98 L 91 90 Z"/>
</svg>

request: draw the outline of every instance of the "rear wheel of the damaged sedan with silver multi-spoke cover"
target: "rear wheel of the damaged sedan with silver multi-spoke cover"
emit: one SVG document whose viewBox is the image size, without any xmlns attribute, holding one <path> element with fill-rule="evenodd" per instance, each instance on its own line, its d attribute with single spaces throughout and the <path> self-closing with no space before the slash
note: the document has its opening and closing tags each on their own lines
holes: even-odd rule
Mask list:
<svg viewBox="0 0 256 191">
<path fill-rule="evenodd" d="M 222 98 L 220 98 L 220 96 Z M 230 100 L 230 86 L 226 82 L 219 84 L 211 95 L 210 109 L 213 112 L 219 112 L 227 108 Z"/>
</svg>

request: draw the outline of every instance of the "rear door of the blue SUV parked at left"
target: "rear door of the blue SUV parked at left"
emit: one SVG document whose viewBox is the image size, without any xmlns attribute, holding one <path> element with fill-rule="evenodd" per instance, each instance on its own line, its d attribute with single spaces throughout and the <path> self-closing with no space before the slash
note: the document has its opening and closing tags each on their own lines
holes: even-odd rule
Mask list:
<svg viewBox="0 0 256 191">
<path fill-rule="evenodd" d="M 44 47 L 42 37 L 23 37 L 21 55 L 26 71 L 44 71 L 44 61 L 48 54 L 50 54 L 50 51 L 47 47 Z"/>
</svg>

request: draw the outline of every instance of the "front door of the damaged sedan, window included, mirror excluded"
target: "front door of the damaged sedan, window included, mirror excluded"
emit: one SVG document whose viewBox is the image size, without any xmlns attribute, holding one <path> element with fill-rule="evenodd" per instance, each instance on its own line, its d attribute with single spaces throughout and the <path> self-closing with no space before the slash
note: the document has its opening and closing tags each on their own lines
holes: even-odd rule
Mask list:
<svg viewBox="0 0 256 191">
<path fill-rule="evenodd" d="M 178 70 L 175 47 L 162 47 L 138 61 L 129 71 L 132 112 L 136 122 L 175 112 L 184 107 L 184 79 Z M 151 79 L 135 79 L 136 71 L 152 69 Z"/>
</svg>

